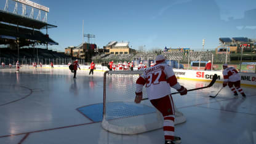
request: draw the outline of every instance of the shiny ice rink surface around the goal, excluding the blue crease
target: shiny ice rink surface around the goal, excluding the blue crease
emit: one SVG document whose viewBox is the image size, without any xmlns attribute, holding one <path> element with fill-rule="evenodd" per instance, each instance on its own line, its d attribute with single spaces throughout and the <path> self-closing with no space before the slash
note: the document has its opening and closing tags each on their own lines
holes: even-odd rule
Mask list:
<svg viewBox="0 0 256 144">
<path fill-rule="evenodd" d="M 209 82 L 178 79 L 187 89 Z M 247 98 L 234 97 L 222 83 L 173 95 L 186 122 L 175 126 L 183 144 L 256 143 L 256 89 L 242 86 Z M 173 90 L 173 89 L 172 89 Z M 174 92 L 174 90 L 172 91 Z M 162 129 L 137 135 L 106 132 L 76 109 L 103 102 L 103 72 L 67 69 L 0 69 L 0 143 L 161 144 Z"/>
</svg>

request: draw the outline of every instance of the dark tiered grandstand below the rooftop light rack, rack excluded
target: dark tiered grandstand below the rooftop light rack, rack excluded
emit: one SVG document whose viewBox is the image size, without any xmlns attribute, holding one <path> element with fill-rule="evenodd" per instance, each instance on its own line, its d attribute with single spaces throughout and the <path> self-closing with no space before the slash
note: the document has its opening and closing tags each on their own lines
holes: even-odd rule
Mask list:
<svg viewBox="0 0 256 144">
<path fill-rule="evenodd" d="M 47 30 L 57 26 L 3 10 L 0 15 L 0 61 L 6 64 L 17 60 L 50 63 L 54 59 L 74 59 L 64 52 L 48 50 L 49 45 L 58 45 L 58 42 L 49 38 Z M 42 29 L 46 29 L 46 34 L 40 31 Z"/>
</svg>

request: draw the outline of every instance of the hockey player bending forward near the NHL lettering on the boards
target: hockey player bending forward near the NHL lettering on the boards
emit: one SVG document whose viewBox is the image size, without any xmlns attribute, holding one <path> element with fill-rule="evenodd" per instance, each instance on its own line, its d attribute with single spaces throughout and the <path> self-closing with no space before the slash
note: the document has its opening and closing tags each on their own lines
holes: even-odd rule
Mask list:
<svg viewBox="0 0 256 144">
<path fill-rule="evenodd" d="M 234 95 L 238 95 L 238 92 L 240 92 L 242 97 L 246 97 L 246 94 L 244 94 L 244 91 L 240 86 L 241 76 L 238 74 L 238 71 L 232 66 L 228 67 L 228 65 L 226 64 L 223 64 L 222 67 L 223 67 L 222 73 L 224 78 L 223 87 L 226 87 L 228 85 L 231 91 L 234 92 Z M 236 92 L 236 89 L 238 90 L 238 92 Z"/>
</svg>

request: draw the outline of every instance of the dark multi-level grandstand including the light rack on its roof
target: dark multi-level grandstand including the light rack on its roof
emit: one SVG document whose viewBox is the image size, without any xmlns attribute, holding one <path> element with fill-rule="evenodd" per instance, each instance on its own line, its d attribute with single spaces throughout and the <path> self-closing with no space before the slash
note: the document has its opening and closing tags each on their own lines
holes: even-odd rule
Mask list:
<svg viewBox="0 0 256 144">
<path fill-rule="evenodd" d="M 15 3 L 13 12 L 10 12 L 11 2 Z M 20 5 L 22 10 L 18 9 Z M 30 15 L 27 15 L 26 7 L 30 7 Z M 34 17 L 34 9 L 38 11 L 37 17 Z M 22 14 L 18 14 L 20 11 Z M 8 58 L 9 63 L 19 60 L 20 57 L 35 58 L 35 55 L 37 58 L 65 57 L 64 54 L 48 50 L 48 46 L 58 45 L 58 42 L 49 37 L 49 28 L 57 26 L 47 23 L 48 12 L 48 7 L 32 1 L 6 0 L 4 10 L 0 10 L 0 57 Z M 43 18 L 41 14 L 44 14 Z M 46 30 L 46 33 L 42 33 L 41 30 Z"/>
</svg>

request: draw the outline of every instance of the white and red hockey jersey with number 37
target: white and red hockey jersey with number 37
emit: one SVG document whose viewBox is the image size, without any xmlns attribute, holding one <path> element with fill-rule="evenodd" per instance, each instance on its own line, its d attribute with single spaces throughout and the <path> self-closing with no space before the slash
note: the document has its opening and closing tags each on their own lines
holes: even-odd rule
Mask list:
<svg viewBox="0 0 256 144">
<path fill-rule="evenodd" d="M 146 84 L 146 93 L 150 100 L 165 97 L 170 94 L 170 87 L 180 89 L 172 67 L 166 63 L 156 64 L 147 68 L 136 82 L 136 93 L 142 92 Z"/>
</svg>

